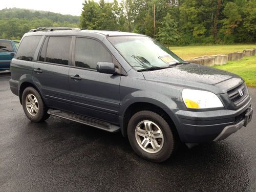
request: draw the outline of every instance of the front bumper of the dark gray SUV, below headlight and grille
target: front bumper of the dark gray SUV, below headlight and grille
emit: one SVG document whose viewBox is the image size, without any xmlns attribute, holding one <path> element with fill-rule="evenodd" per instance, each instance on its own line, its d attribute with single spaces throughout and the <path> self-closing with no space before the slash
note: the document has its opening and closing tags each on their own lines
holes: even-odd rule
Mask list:
<svg viewBox="0 0 256 192">
<path fill-rule="evenodd" d="M 184 143 L 219 141 L 246 126 L 252 116 L 251 98 L 240 109 L 206 112 L 176 112 Z M 248 113 L 249 117 L 248 117 Z"/>
</svg>

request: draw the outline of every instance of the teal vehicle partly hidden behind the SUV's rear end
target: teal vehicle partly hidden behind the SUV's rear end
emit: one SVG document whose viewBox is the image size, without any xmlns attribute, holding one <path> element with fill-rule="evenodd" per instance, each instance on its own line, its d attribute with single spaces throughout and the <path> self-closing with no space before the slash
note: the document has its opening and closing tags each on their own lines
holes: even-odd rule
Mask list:
<svg viewBox="0 0 256 192">
<path fill-rule="evenodd" d="M 19 41 L 0 39 L 0 71 L 9 70 Z"/>
</svg>

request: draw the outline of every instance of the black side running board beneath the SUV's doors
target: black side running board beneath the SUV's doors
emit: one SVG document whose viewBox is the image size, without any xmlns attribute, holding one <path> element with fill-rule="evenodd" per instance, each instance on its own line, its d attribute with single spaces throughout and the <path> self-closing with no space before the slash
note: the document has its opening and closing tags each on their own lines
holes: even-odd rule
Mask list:
<svg viewBox="0 0 256 192">
<path fill-rule="evenodd" d="M 98 129 L 105 130 L 108 132 L 117 132 L 120 129 L 119 126 L 116 126 L 116 125 L 113 125 L 113 124 L 110 124 L 110 123 L 107 123 L 104 121 L 100 121 L 97 119 L 92 119 L 89 117 L 77 115 L 75 113 L 63 112 L 60 110 L 52 110 L 52 109 L 49 109 L 47 113 L 50 115 L 64 118 L 64 119 L 69 119 L 71 121 L 75 121 L 78 123 L 94 126 Z"/>
</svg>

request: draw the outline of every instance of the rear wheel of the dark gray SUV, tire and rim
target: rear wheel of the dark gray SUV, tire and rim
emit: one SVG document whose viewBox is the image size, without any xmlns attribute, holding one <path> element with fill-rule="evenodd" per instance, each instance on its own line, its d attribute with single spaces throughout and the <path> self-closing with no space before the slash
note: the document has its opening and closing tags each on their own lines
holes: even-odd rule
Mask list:
<svg viewBox="0 0 256 192">
<path fill-rule="evenodd" d="M 50 116 L 40 94 L 32 87 L 28 87 L 23 91 L 22 106 L 26 116 L 32 122 L 45 121 Z"/>
</svg>

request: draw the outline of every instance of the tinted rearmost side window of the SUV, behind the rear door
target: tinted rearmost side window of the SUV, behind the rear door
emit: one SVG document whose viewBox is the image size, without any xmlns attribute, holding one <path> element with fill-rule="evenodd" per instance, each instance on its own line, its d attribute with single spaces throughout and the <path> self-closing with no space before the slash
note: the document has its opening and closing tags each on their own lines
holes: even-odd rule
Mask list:
<svg viewBox="0 0 256 192">
<path fill-rule="evenodd" d="M 41 36 L 24 37 L 16 53 L 16 59 L 32 61 Z"/>
</svg>

